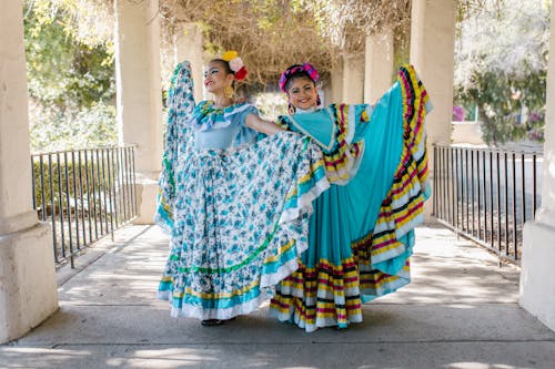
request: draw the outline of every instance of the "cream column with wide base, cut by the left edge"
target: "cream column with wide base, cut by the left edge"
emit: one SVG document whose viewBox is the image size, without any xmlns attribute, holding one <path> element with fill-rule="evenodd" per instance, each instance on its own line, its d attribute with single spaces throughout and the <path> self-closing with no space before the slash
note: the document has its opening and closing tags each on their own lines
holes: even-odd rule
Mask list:
<svg viewBox="0 0 555 369">
<path fill-rule="evenodd" d="M 0 12 L 0 342 L 58 309 L 52 234 L 32 209 L 21 0 Z"/>
</svg>

